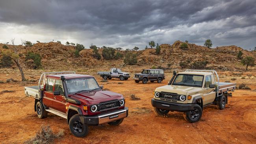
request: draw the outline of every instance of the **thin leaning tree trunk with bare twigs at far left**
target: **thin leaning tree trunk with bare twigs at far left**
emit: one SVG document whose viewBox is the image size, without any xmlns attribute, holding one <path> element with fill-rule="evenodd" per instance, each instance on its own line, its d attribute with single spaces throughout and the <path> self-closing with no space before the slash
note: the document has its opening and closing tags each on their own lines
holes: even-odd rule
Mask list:
<svg viewBox="0 0 256 144">
<path fill-rule="evenodd" d="M 19 63 L 18 49 L 17 49 L 17 46 L 15 46 L 15 44 L 14 44 L 14 40 L 15 40 L 15 38 L 14 38 L 14 39 L 11 39 L 11 43 L 13 44 L 13 46 L 10 47 L 10 49 L 13 50 L 13 52 L 14 52 L 14 55 L 13 55 L 13 54 L 11 55 L 11 59 L 16 63 L 16 65 L 18 66 L 18 68 L 19 68 L 19 70 L 20 70 L 21 80 L 22 80 L 22 81 L 25 81 L 26 79 L 25 79 L 23 70 L 22 70 L 22 68 L 21 68 L 21 66 L 20 66 L 20 63 Z"/>
</svg>

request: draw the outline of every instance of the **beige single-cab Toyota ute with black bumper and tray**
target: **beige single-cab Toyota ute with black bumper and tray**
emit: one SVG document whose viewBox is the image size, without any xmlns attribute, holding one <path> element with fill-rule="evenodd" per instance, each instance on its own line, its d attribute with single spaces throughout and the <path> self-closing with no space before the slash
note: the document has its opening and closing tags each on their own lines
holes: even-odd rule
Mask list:
<svg viewBox="0 0 256 144">
<path fill-rule="evenodd" d="M 228 97 L 232 97 L 230 91 L 235 89 L 236 83 L 219 82 L 215 70 L 174 71 L 168 85 L 156 88 L 151 104 L 159 115 L 180 111 L 187 122 L 193 123 L 200 120 L 208 105 L 224 109 Z"/>
</svg>

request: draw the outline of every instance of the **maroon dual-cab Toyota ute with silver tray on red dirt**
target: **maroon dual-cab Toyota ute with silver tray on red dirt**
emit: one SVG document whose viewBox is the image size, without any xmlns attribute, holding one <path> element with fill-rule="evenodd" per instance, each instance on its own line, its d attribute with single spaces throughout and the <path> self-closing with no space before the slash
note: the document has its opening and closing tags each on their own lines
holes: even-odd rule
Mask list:
<svg viewBox="0 0 256 144">
<path fill-rule="evenodd" d="M 39 118 L 46 118 L 48 112 L 66 118 L 71 133 L 84 137 L 88 126 L 118 126 L 128 116 L 124 97 L 102 89 L 93 76 L 45 72 L 38 86 L 25 87 L 25 94 L 35 98 Z"/>
</svg>

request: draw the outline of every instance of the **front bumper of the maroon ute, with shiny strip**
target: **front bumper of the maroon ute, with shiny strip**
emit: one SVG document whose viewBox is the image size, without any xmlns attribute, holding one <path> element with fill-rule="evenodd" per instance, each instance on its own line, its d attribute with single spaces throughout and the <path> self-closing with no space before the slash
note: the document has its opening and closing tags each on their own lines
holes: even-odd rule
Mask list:
<svg viewBox="0 0 256 144">
<path fill-rule="evenodd" d="M 128 107 L 124 107 L 124 109 L 119 109 L 104 114 L 98 114 L 95 116 L 80 116 L 80 120 L 83 124 L 86 124 L 88 126 L 98 126 L 106 124 L 108 122 L 113 122 L 115 120 L 126 118 L 127 116 Z"/>
</svg>

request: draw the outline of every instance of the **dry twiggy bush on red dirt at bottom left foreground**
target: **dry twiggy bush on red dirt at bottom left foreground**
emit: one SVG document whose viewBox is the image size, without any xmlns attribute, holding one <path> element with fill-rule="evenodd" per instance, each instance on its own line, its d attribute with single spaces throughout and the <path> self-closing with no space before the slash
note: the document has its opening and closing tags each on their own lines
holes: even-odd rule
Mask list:
<svg viewBox="0 0 256 144">
<path fill-rule="evenodd" d="M 35 137 L 24 142 L 25 144 L 50 144 L 55 138 L 63 137 L 64 131 L 61 129 L 57 134 L 54 134 L 50 126 L 41 126 Z"/>
</svg>

